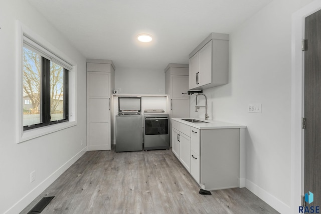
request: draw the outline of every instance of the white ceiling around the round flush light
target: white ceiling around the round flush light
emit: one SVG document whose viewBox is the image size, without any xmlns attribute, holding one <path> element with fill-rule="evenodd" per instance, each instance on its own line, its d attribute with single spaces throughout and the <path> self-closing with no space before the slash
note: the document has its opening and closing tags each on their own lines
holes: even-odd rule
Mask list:
<svg viewBox="0 0 321 214">
<path fill-rule="evenodd" d="M 29 0 L 87 59 L 165 69 L 211 32 L 236 29 L 272 0 Z M 151 43 L 136 35 L 153 36 Z"/>
</svg>

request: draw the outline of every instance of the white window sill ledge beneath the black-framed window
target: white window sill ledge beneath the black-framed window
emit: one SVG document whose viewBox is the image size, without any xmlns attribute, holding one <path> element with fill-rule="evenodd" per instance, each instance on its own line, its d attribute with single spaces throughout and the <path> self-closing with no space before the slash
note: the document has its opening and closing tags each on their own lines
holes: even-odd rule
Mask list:
<svg viewBox="0 0 321 214">
<path fill-rule="evenodd" d="M 76 121 L 68 121 L 64 123 L 26 130 L 26 131 L 23 131 L 22 136 L 19 136 L 18 143 L 22 143 L 37 137 L 41 137 L 56 131 L 60 131 L 60 130 L 75 126 L 75 125 L 77 125 Z"/>
</svg>

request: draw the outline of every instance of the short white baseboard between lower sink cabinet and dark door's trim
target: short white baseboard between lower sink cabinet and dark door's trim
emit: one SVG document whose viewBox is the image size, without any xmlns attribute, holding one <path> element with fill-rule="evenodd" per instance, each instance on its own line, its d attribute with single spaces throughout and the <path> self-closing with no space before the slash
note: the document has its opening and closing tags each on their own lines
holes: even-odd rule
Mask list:
<svg viewBox="0 0 321 214">
<path fill-rule="evenodd" d="M 274 209 L 276 209 L 280 213 L 290 213 L 290 206 L 286 205 L 279 199 L 277 199 L 275 196 L 267 192 L 266 190 L 262 189 L 252 181 L 246 180 L 246 186 L 248 190 L 253 192 L 256 196 L 264 200 L 267 204 L 272 206 Z"/>
</svg>

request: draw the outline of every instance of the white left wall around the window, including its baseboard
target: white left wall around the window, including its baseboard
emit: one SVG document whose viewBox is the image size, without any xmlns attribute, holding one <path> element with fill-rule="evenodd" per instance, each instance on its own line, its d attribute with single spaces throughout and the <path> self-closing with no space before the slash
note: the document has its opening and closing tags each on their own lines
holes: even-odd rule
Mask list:
<svg viewBox="0 0 321 214">
<path fill-rule="evenodd" d="M 86 59 L 28 1 L 3 1 L 0 7 L 0 213 L 19 213 L 86 147 Z M 77 65 L 77 125 L 17 143 L 16 20 L 34 31 Z M 80 86 L 80 87 L 77 87 Z M 81 140 L 84 145 L 81 145 Z M 78 154 L 78 156 L 77 156 Z M 73 158 L 74 157 L 74 158 Z M 30 173 L 36 180 L 30 182 Z"/>
</svg>

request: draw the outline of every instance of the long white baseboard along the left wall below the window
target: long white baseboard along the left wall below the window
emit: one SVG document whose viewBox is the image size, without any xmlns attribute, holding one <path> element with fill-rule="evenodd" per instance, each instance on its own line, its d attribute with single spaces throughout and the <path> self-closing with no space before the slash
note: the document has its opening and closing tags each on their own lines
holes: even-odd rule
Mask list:
<svg viewBox="0 0 321 214">
<path fill-rule="evenodd" d="M 70 158 L 66 163 L 59 167 L 49 177 L 42 181 L 38 186 L 21 198 L 15 205 L 8 209 L 5 214 L 16 214 L 21 212 L 26 206 L 28 206 L 38 195 L 40 195 L 50 184 L 52 184 L 64 171 L 66 171 L 73 163 L 75 163 L 85 152 L 87 147 L 83 148 L 75 156 Z"/>
</svg>

